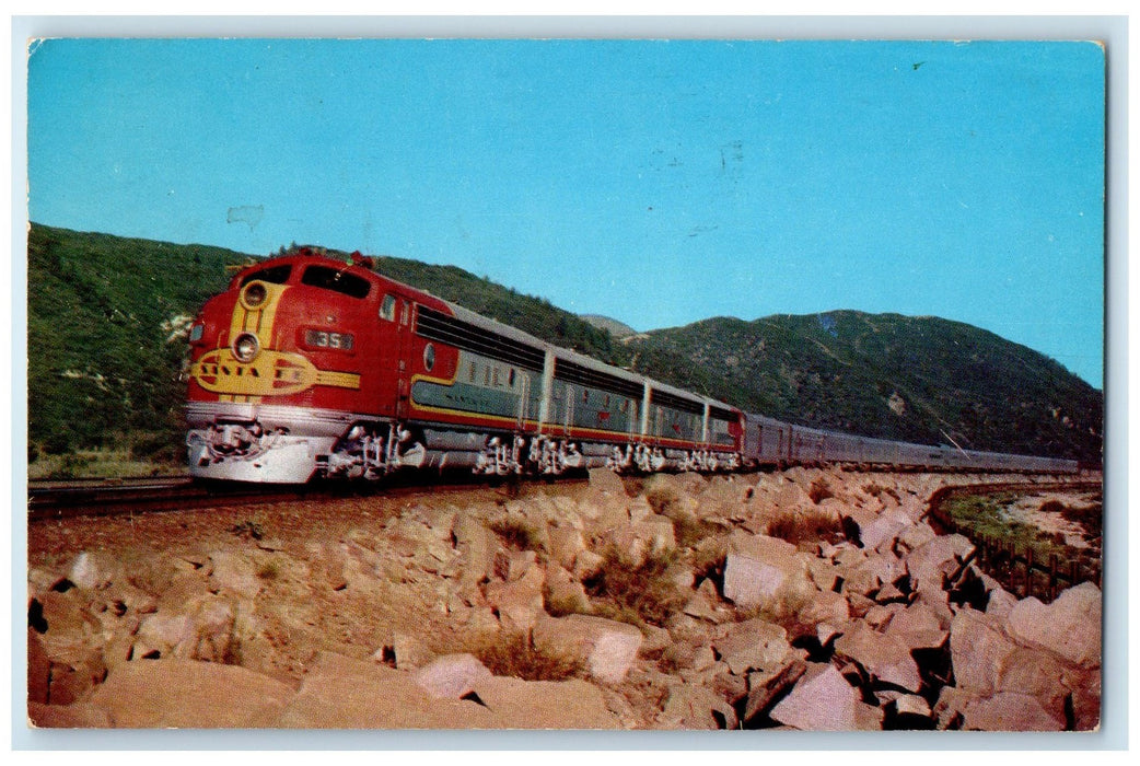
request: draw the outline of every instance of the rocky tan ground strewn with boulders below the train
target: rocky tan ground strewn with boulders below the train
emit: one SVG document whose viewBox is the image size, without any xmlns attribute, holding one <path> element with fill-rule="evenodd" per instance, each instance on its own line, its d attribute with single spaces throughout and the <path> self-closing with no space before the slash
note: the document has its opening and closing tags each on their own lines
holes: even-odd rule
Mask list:
<svg viewBox="0 0 1140 766">
<path fill-rule="evenodd" d="M 1043 604 L 979 571 L 923 520 L 970 481 L 995 478 L 596 471 L 34 524 L 28 718 L 1096 728 L 1099 589 Z"/>
</svg>

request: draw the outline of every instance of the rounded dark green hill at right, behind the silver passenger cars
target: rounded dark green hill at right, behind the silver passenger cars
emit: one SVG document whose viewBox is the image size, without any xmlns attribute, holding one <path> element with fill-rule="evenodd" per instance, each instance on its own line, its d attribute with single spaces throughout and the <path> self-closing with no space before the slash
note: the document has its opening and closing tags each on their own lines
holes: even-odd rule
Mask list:
<svg viewBox="0 0 1140 766">
<path fill-rule="evenodd" d="M 1104 393 L 1044 355 L 935 317 L 833 311 L 649 333 L 635 367 L 750 411 L 921 443 L 1100 459 Z"/>
</svg>

